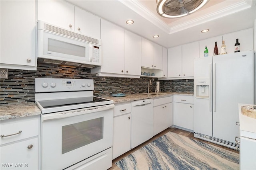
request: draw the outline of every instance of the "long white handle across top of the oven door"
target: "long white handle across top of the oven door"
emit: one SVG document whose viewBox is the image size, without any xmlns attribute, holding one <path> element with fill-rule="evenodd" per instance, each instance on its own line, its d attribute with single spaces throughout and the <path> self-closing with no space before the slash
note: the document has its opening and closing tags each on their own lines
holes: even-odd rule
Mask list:
<svg viewBox="0 0 256 170">
<path fill-rule="evenodd" d="M 108 109 L 114 108 L 114 106 L 115 106 L 114 104 L 109 104 L 109 105 L 103 105 L 103 106 L 61 111 L 58 113 L 42 114 L 41 117 L 42 117 L 42 121 L 51 120 L 51 119 L 62 119 L 65 117 L 72 117 L 72 116 L 77 116 L 77 115 L 84 115 L 84 114 L 88 114 L 88 113 L 95 113 L 98 111 L 108 110 Z"/>
</svg>

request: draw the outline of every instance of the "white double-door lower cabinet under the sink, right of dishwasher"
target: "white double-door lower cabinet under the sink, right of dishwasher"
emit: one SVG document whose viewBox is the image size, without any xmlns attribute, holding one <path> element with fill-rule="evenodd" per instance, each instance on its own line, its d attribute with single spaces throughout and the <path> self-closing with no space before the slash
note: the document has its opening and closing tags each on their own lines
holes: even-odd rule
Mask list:
<svg viewBox="0 0 256 170">
<path fill-rule="evenodd" d="M 153 135 L 172 126 L 172 96 L 153 100 Z"/>
</svg>

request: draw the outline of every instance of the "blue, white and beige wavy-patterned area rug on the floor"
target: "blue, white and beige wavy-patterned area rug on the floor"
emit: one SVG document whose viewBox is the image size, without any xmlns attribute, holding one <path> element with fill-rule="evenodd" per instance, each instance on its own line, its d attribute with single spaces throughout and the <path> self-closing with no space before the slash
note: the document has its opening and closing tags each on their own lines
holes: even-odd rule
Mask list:
<svg viewBox="0 0 256 170">
<path fill-rule="evenodd" d="M 239 170 L 239 154 L 168 132 L 115 163 L 122 170 Z"/>
</svg>

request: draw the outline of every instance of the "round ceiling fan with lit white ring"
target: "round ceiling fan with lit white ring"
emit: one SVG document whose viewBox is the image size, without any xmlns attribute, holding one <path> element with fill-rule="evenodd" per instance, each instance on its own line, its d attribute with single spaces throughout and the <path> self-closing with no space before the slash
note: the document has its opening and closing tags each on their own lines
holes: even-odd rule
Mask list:
<svg viewBox="0 0 256 170">
<path fill-rule="evenodd" d="M 156 0 L 157 13 L 164 18 L 178 18 L 204 6 L 207 0 Z"/>
</svg>

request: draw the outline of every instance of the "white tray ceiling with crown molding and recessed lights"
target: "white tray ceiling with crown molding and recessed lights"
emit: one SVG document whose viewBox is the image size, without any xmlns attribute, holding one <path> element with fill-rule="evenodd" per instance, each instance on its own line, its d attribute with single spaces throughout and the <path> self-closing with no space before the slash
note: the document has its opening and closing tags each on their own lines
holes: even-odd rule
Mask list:
<svg viewBox="0 0 256 170">
<path fill-rule="evenodd" d="M 208 0 L 200 10 L 181 18 L 159 16 L 156 0 L 67 1 L 167 48 L 254 27 L 256 18 L 255 0 Z M 128 19 L 134 24 L 127 25 Z M 201 33 L 202 29 L 210 31 Z"/>
</svg>

